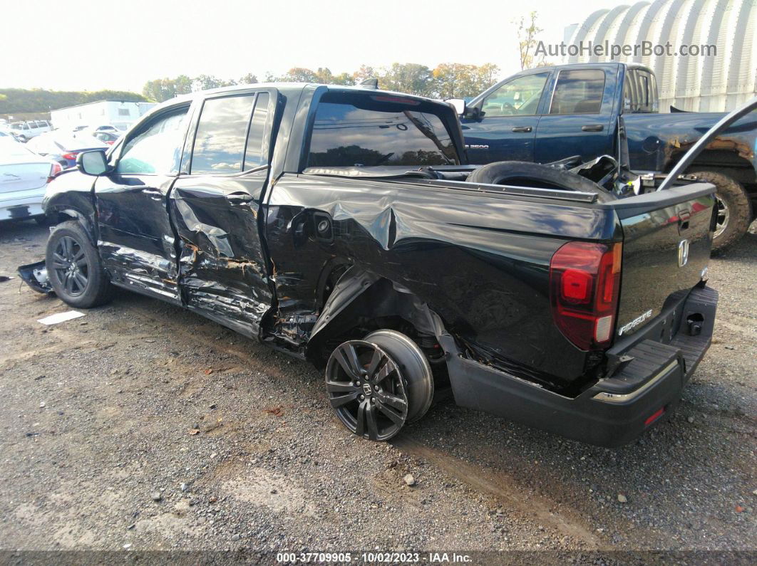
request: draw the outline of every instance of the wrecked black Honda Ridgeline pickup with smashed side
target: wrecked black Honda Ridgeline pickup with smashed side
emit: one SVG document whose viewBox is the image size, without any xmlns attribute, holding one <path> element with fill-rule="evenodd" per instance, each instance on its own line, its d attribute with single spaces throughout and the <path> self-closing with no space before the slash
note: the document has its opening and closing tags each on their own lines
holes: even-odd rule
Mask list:
<svg viewBox="0 0 757 566">
<path fill-rule="evenodd" d="M 709 346 L 712 184 L 616 198 L 470 181 L 453 108 L 254 85 L 156 107 L 51 182 L 36 289 L 129 289 L 325 369 L 355 434 L 456 402 L 593 444 L 678 404 Z M 567 183 L 566 185 L 569 185 Z"/>
</svg>

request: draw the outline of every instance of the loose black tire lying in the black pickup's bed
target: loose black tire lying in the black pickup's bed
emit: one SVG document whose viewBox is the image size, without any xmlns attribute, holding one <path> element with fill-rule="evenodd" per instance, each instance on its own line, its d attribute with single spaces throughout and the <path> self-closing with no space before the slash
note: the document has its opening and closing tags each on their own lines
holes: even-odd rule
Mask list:
<svg viewBox="0 0 757 566">
<path fill-rule="evenodd" d="M 519 187 L 576 190 L 596 193 L 600 202 L 615 200 L 609 190 L 589 181 L 581 175 L 561 171 L 549 165 L 527 161 L 500 161 L 479 167 L 466 179 L 469 183 L 511 184 Z"/>
</svg>

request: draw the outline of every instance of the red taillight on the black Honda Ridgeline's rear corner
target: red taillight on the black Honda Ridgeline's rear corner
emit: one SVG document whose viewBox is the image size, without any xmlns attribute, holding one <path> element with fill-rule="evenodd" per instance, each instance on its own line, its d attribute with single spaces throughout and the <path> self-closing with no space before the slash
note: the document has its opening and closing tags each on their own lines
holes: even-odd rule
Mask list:
<svg viewBox="0 0 757 566">
<path fill-rule="evenodd" d="M 550 261 L 550 300 L 557 327 L 581 350 L 612 342 L 618 311 L 622 244 L 569 242 Z"/>
</svg>

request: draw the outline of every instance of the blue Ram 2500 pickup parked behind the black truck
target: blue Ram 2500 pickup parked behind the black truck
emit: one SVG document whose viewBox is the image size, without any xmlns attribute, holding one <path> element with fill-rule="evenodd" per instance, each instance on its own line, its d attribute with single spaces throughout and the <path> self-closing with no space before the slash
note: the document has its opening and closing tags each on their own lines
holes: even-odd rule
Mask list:
<svg viewBox="0 0 757 566">
<path fill-rule="evenodd" d="M 662 178 L 723 113 L 658 113 L 654 73 L 637 64 L 540 67 L 510 76 L 455 106 L 469 162 L 554 162 L 601 155 Z M 718 189 L 714 249 L 743 236 L 757 199 L 757 116 L 719 135 L 687 169 Z"/>
</svg>

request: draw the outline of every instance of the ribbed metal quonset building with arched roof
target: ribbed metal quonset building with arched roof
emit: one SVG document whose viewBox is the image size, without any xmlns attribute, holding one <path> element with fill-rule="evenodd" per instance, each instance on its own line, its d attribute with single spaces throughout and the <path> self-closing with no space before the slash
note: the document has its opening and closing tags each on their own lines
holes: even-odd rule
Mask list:
<svg viewBox="0 0 757 566">
<path fill-rule="evenodd" d="M 565 44 L 715 45 L 717 55 L 615 57 L 649 66 L 657 76 L 659 108 L 720 112 L 733 110 L 757 94 L 757 0 L 654 0 L 598 10 L 583 23 L 565 28 Z M 640 51 L 640 50 L 639 50 Z M 567 63 L 612 60 L 586 52 Z"/>
</svg>

